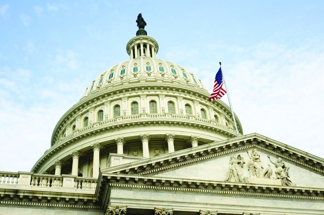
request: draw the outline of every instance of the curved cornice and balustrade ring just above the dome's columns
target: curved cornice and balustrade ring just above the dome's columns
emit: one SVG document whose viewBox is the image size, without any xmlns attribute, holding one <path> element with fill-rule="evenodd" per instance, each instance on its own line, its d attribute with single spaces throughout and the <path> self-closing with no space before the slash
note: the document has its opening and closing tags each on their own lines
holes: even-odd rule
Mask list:
<svg viewBox="0 0 324 215">
<path fill-rule="evenodd" d="M 143 114 L 142 114 L 143 115 Z M 224 137 L 235 137 L 235 131 L 229 130 L 226 126 L 219 123 L 211 124 L 210 120 L 194 117 L 195 121 L 189 120 L 187 115 L 171 115 L 171 118 L 165 118 L 166 114 L 146 114 L 145 118 L 140 118 L 140 115 L 125 116 L 121 119 L 123 121 L 116 121 L 116 119 L 107 120 L 103 122 L 96 122 L 86 128 L 80 130 L 80 133 L 75 133 L 65 137 L 65 139 L 53 145 L 46 151 L 45 154 L 35 163 L 31 172 L 37 172 L 42 164 L 44 164 L 50 157 L 66 148 L 69 145 L 75 144 L 85 138 L 89 138 L 98 134 L 108 133 L 112 130 L 117 130 L 127 127 L 142 127 L 142 126 L 182 126 L 194 129 L 203 129 L 210 132 L 218 133 Z"/>
</svg>

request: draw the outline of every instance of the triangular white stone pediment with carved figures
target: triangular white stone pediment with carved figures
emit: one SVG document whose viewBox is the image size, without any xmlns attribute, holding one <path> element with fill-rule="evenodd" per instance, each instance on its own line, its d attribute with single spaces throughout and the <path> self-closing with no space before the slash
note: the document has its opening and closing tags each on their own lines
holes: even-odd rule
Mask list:
<svg viewBox="0 0 324 215">
<path fill-rule="evenodd" d="M 323 167 L 321 158 L 259 134 L 250 134 L 110 167 L 102 173 L 324 187 Z"/>
</svg>

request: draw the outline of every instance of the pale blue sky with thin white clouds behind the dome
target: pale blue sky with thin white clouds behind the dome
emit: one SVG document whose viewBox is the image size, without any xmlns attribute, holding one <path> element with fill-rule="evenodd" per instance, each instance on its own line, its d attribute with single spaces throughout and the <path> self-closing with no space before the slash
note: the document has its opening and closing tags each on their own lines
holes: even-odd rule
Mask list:
<svg viewBox="0 0 324 215">
<path fill-rule="evenodd" d="M 0 170 L 29 171 L 91 81 L 129 59 L 138 13 L 159 43 L 157 57 L 209 90 L 222 62 L 245 134 L 323 157 L 323 8 L 323 1 L 0 1 Z"/>
</svg>

